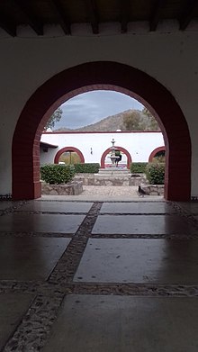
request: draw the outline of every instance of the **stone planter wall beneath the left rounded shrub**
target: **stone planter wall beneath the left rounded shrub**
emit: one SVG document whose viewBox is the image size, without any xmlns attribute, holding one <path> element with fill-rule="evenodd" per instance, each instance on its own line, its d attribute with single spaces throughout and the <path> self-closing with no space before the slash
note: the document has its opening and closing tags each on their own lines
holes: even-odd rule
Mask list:
<svg viewBox="0 0 198 352">
<path fill-rule="evenodd" d="M 67 185 L 49 185 L 41 183 L 41 194 L 46 195 L 77 195 L 83 192 L 82 181 L 73 181 Z"/>
</svg>

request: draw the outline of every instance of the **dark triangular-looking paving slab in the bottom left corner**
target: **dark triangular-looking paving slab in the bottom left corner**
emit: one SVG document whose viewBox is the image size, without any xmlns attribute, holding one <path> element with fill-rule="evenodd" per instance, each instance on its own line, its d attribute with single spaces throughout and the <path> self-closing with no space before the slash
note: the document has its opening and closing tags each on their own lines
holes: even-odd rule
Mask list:
<svg viewBox="0 0 198 352">
<path fill-rule="evenodd" d="M 23 293 L 1 293 L 0 294 L 0 349 L 14 334 L 23 318 L 23 314 L 28 310 L 33 295 Z"/>
</svg>

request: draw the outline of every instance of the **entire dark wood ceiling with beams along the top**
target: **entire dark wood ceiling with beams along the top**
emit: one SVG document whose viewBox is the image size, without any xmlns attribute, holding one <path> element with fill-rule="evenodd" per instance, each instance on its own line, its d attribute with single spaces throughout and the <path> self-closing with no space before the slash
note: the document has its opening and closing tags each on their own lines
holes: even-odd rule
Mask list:
<svg viewBox="0 0 198 352">
<path fill-rule="evenodd" d="M 72 35 L 72 24 L 89 23 L 99 34 L 101 23 L 120 23 L 127 32 L 128 23 L 146 21 L 156 31 L 159 22 L 171 19 L 184 31 L 198 21 L 198 0 L 0 0 L 0 28 L 13 37 L 21 25 L 43 35 L 44 25 L 58 24 Z"/>
</svg>

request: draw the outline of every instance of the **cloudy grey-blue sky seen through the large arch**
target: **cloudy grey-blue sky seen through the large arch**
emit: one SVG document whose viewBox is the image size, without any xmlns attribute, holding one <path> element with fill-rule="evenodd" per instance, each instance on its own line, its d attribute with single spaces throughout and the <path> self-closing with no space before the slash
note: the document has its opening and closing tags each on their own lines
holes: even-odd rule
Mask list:
<svg viewBox="0 0 198 352">
<path fill-rule="evenodd" d="M 61 127 L 76 129 L 125 110 L 142 110 L 143 105 L 129 95 L 99 90 L 76 95 L 62 104 L 61 109 L 62 118 L 55 124 L 55 130 Z"/>
</svg>

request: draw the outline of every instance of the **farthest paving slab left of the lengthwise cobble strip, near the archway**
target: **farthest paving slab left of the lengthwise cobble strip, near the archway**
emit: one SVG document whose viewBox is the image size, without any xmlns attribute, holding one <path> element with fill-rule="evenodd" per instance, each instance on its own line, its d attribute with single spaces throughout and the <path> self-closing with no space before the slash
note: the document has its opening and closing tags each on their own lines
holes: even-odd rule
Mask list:
<svg viewBox="0 0 198 352">
<path fill-rule="evenodd" d="M 93 203 L 31 201 L 23 205 L 29 212 L 89 212 Z"/>
</svg>

